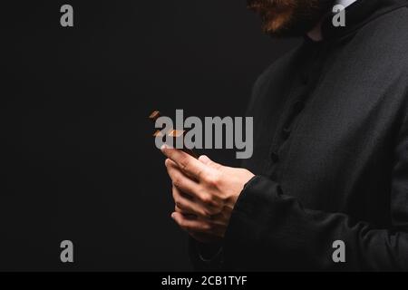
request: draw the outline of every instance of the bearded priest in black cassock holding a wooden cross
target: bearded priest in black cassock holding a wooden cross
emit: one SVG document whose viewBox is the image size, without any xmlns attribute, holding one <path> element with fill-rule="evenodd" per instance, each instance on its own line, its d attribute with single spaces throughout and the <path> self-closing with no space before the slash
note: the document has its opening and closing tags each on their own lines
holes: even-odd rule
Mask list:
<svg viewBox="0 0 408 290">
<path fill-rule="evenodd" d="M 198 269 L 408 270 L 408 1 L 337 3 L 248 1 L 305 41 L 254 86 L 246 169 L 162 149 Z"/>
</svg>

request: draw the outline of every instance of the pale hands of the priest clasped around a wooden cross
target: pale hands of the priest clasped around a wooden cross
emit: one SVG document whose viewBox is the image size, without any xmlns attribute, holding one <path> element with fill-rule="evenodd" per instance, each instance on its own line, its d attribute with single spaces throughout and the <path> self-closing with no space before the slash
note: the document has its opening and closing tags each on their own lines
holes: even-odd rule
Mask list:
<svg viewBox="0 0 408 290">
<path fill-rule="evenodd" d="M 166 167 L 173 182 L 176 208 L 171 218 L 201 242 L 224 237 L 239 194 L 254 174 L 222 166 L 207 156 L 196 160 L 166 145 L 161 151 L 168 158 Z"/>
</svg>

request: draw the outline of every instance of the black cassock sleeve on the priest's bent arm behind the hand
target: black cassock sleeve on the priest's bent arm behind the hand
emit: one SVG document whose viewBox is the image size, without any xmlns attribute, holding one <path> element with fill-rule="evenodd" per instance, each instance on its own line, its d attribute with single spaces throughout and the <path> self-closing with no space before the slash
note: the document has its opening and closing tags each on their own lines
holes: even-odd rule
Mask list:
<svg viewBox="0 0 408 290">
<path fill-rule="evenodd" d="M 397 164 L 393 179 L 392 228 L 375 228 L 342 213 L 304 208 L 265 177 L 241 193 L 225 237 L 233 270 L 408 270 L 408 171 Z M 333 243 L 345 245 L 335 263 Z"/>
</svg>

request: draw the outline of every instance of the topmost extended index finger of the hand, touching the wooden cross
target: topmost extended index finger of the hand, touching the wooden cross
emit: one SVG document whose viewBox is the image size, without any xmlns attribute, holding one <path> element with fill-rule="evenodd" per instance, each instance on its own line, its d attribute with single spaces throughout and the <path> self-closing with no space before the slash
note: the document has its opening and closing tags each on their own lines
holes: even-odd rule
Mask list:
<svg viewBox="0 0 408 290">
<path fill-rule="evenodd" d="M 161 152 L 163 152 L 167 158 L 173 160 L 181 171 L 193 176 L 195 179 L 201 179 L 202 176 L 208 174 L 209 168 L 205 164 L 182 150 L 172 149 L 167 145 L 163 145 Z"/>
</svg>

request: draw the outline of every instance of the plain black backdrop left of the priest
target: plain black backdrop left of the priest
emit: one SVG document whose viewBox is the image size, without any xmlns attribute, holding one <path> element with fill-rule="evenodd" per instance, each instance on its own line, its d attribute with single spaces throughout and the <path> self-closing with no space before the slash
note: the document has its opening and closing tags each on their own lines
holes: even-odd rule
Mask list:
<svg viewBox="0 0 408 290">
<path fill-rule="evenodd" d="M 245 0 L 0 12 L 0 270 L 189 270 L 147 116 L 242 116 L 257 75 L 297 40 L 262 34 Z M 233 150 L 205 153 L 238 165 Z M 60 261 L 63 239 L 73 264 Z"/>
</svg>

